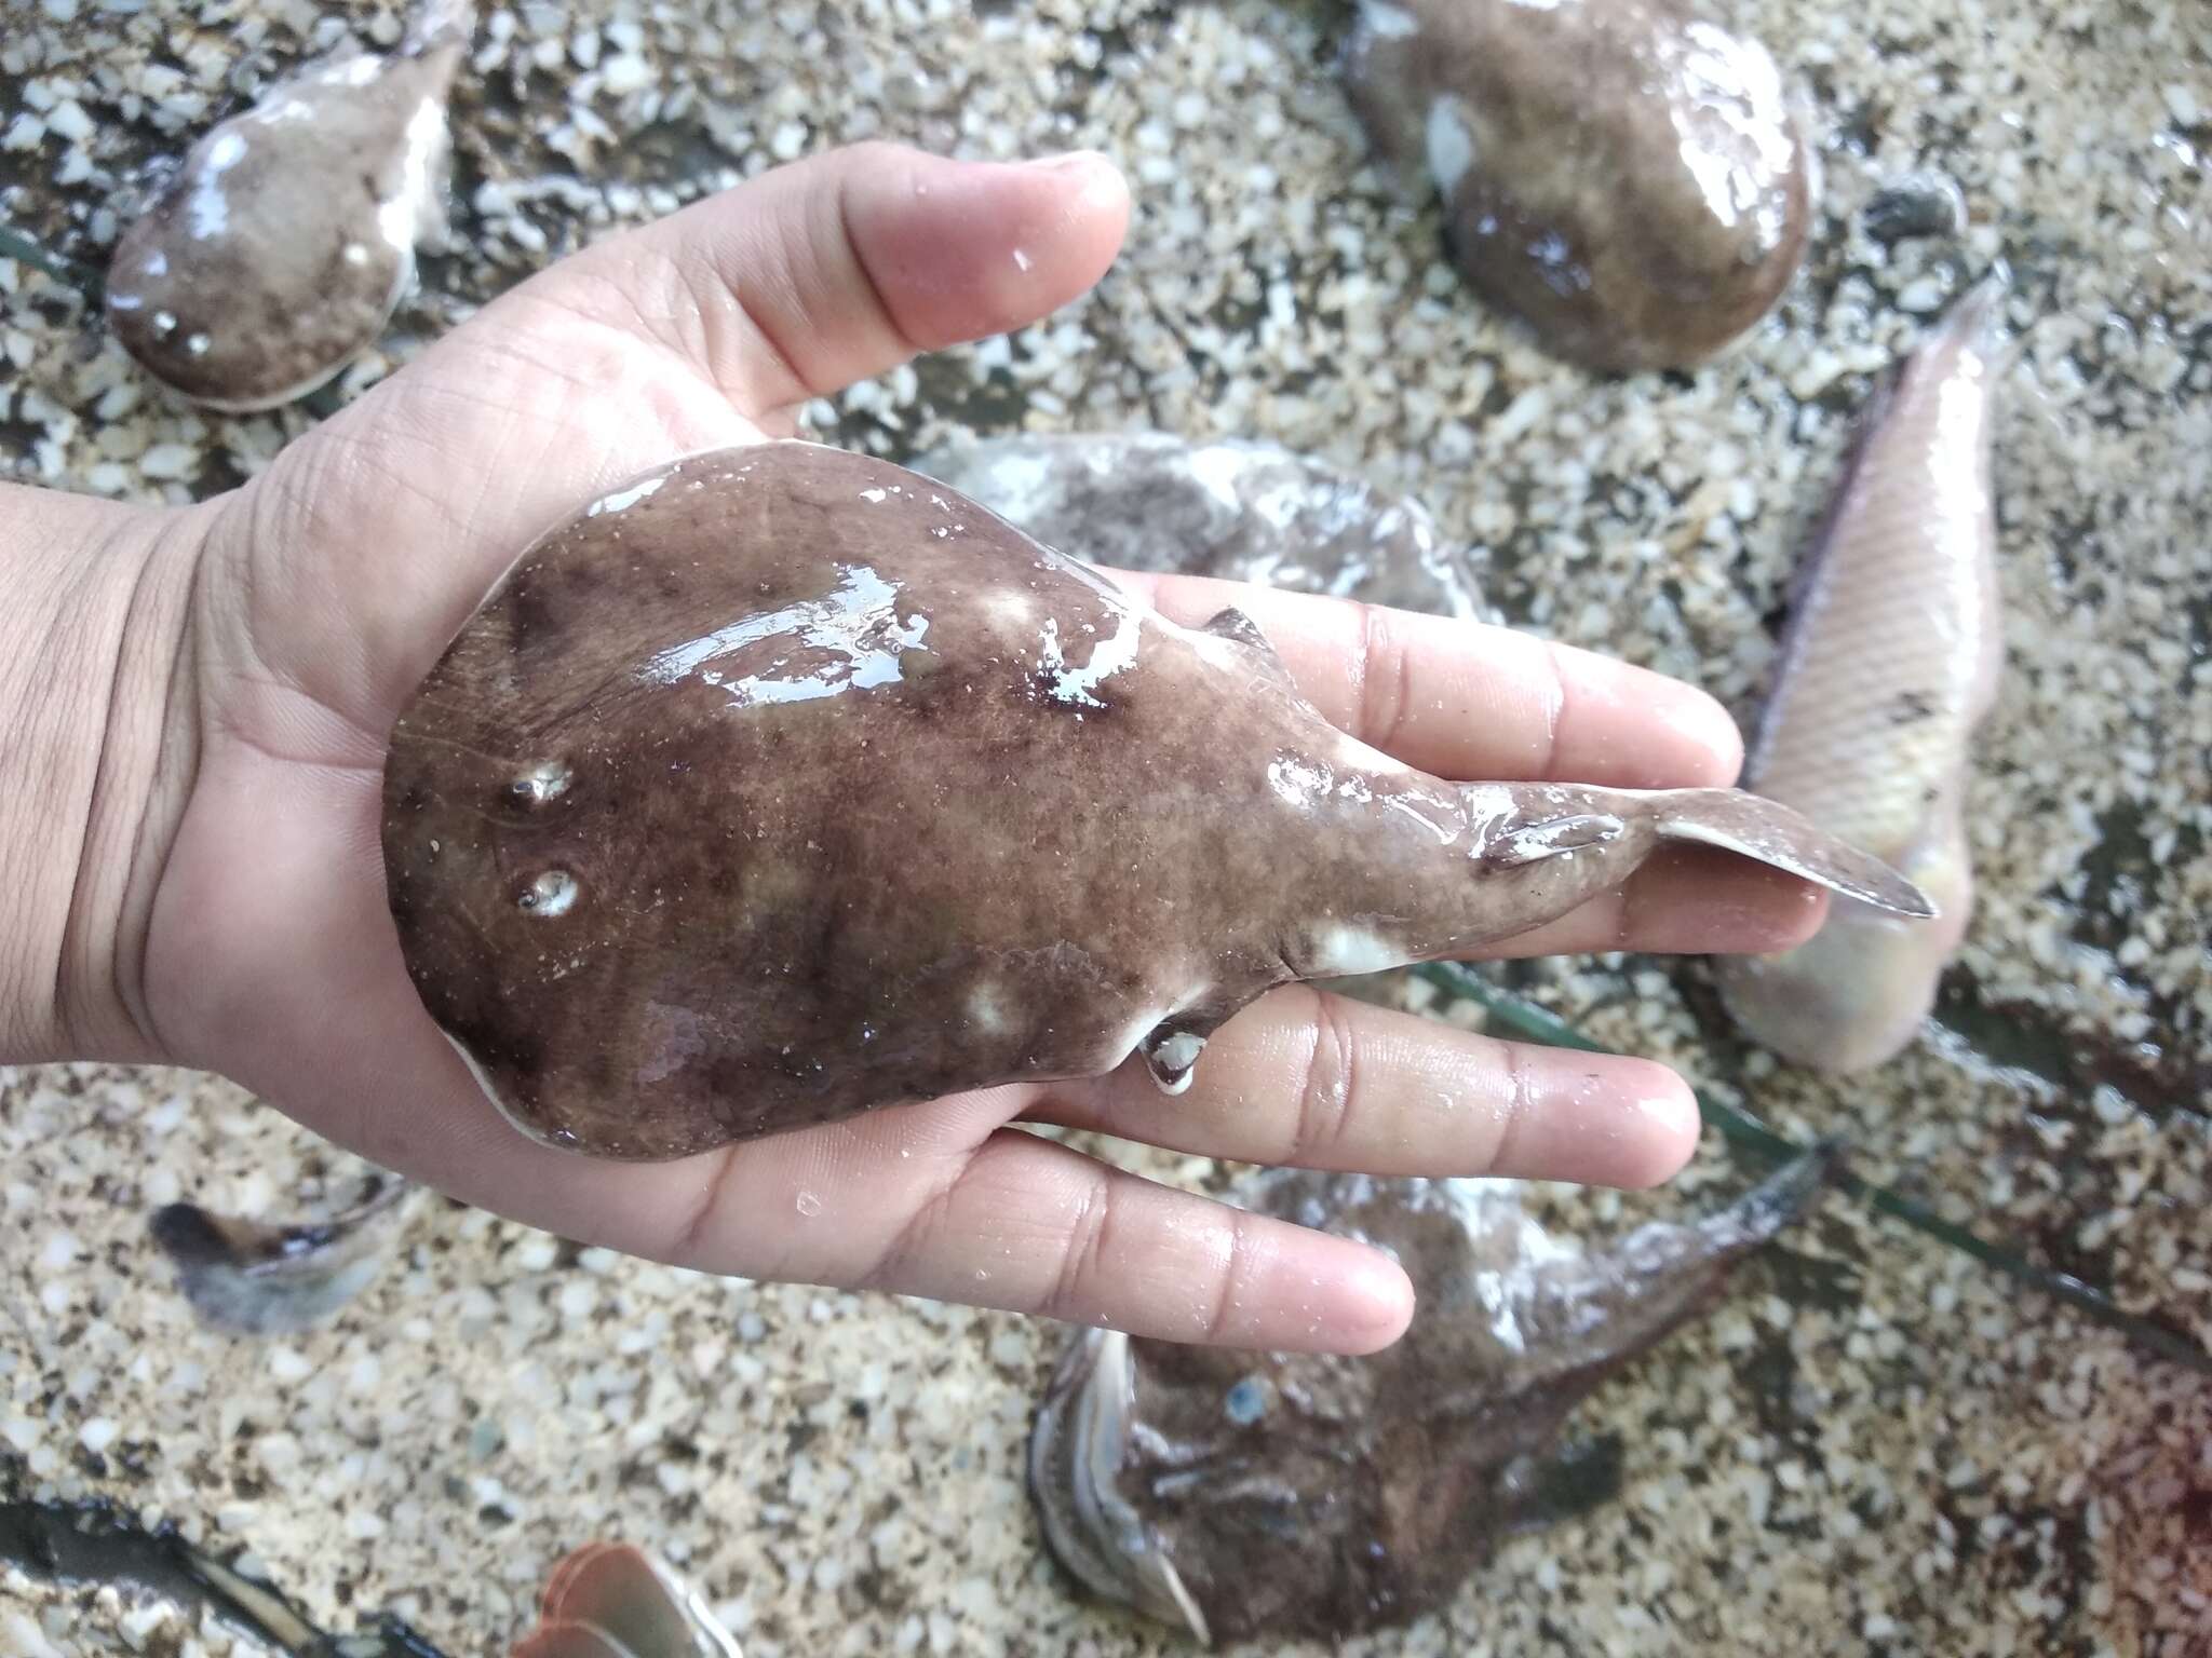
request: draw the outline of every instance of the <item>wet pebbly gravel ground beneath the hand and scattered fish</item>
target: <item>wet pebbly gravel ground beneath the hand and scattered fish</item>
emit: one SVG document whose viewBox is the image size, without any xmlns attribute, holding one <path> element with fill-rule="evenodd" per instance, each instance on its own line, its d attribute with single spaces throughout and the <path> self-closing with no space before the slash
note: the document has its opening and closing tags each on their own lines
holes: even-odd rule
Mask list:
<svg viewBox="0 0 2212 1658">
<path fill-rule="evenodd" d="M 1091 144 L 1139 201 L 1099 292 L 816 407 L 823 436 L 894 455 L 1013 424 L 1272 438 L 1420 495 L 1515 621 L 1750 716 L 1869 376 L 2006 256 L 2011 663 L 1973 785 L 1982 904 L 1929 1037 L 1829 1085 L 1747 1050 L 1694 964 L 1515 977 L 1776 1127 L 1847 1132 L 1869 1176 L 2212 1349 L 2208 13 L 1765 0 L 1741 22 L 1823 148 L 1807 270 L 1728 360 L 1599 382 L 1464 296 L 1433 212 L 1363 166 L 1334 7 L 489 11 L 456 104 L 456 250 L 343 393 L 546 259 L 779 159 L 874 135 Z M 396 18 L 9 0 L 0 221 L 97 267 L 150 157 L 347 29 L 392 40 Z M 1887 248 L 1860 208 L 1918 168 L 1958 179 L 1971 228 Z M 175 405 L 71 287 L 0 259 L 0 466 L 188 500 L 310 420 Z M 111 1497 L 250 1550 L 325 1623 L 389 1607 L 456 1654 L 513 1636 L 593 1534 L 681 1561 L 752 1658 L 1177 1645 L 1037 1554 L 1020 1448 L 1057 1331 L 701 1280 L 449 1205 L 334 1329 L 199 1331 L 146 1209 L 288 1214 L 341 1172 L 223 1083 L 0 1072 L 0 1501 Z M 1606 1231 L 1736 1180 L 1712 1138 L 1659 1198 L 1540 1196 Z M 1619 1444 L 1621 1499 L 1352 1651 L 2212 1651 L 2212 1384 L 1849 1203 L 1579 1424 Z M 95 1598 L 0 1574 L 0 1649 L 35 1654 L 40 1618 L 60 1651 L 221 1647 Z"/>
</svg>

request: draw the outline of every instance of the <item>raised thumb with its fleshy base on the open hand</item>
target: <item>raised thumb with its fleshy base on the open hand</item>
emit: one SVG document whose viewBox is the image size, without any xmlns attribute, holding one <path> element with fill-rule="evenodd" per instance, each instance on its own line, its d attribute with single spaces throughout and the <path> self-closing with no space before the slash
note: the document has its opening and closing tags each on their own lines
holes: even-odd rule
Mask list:
<svg viewBox="0 0 2212 1658">
<path fill-rule="evenodd" d="M 584 500 L 1033 323 L 1104 274 L 1126 225 L 1104 157 L 860 144 L 564 259 L 243 493 L 223 537 L 243 657 L 380 734 L 500 570 Z"/>
</svg>

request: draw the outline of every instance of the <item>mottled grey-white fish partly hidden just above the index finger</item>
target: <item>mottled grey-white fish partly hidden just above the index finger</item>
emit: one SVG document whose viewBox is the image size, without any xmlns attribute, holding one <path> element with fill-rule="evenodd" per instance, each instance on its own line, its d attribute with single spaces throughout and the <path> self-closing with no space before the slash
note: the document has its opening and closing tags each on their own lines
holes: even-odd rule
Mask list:
<svg viewBox="0 0 2212 1658">
<path fill-rule="evenodd" d="M 1429 511 L 1256 442 L 1159 431 L 1013 433 L 914 462 L 1046 546 L 1115 570 L 1164 570 L 1480 617 L 1467 553 Z"/>
</svg>

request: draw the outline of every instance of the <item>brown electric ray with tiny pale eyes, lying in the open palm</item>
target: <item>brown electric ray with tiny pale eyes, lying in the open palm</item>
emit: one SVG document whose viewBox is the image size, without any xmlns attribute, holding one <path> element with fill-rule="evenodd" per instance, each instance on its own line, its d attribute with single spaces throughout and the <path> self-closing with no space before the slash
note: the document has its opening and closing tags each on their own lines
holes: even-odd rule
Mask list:
<svg viewBox="0 0 2212 1658">
<path fill-rule="evenodd" d="M 1666 838 L 1922 900 L 1719 789 L 1455 785 L 898 466 L 677 462 L 524 553 L 400 716 L 422 1001 L 526 1132 L 679 1156 L 1141 1052 L 1464 953 Z"/>
</svg>

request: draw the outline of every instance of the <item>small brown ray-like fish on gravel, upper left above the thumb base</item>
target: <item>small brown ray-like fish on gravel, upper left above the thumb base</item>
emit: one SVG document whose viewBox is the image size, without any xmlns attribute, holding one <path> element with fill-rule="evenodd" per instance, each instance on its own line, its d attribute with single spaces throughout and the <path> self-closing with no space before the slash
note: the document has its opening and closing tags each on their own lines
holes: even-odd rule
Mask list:
<svg viewBox="0 0 2212 1658">
<path fill-rule="evenodd" d="M 440 217 L 465 51 L 467 7 L 438 0 L 396 53 L 316 64 L 201 137 L 115 243 L 124 349 L 195 402 L 268 409 L 376 340 Z"/>
</svg>

